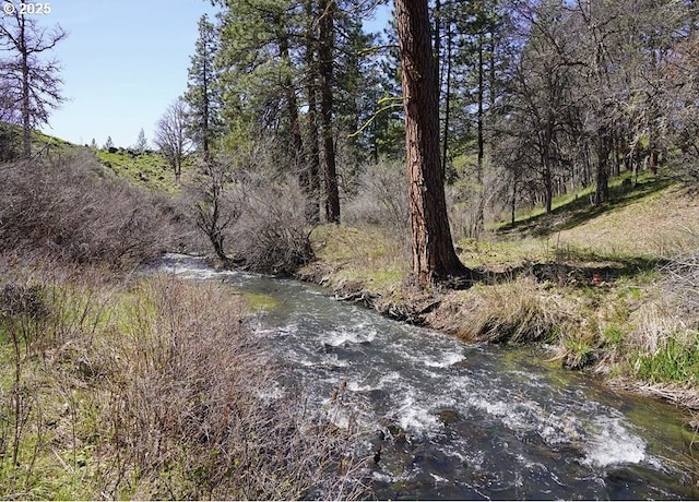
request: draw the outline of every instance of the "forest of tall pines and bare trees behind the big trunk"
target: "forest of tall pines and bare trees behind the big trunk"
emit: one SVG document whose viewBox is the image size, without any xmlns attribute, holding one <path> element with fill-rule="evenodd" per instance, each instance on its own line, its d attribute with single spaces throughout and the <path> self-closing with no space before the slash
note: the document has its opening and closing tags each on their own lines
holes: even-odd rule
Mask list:
<svg viewBox="0 0 699 502">
<path fill-rule="evenodd" d="M 340 222 L 358 177 L 406 154 L 400 16 L 377 34 L 364 21 L 386 5 L 215 3 L 221 13 L 200 20 L 191 57 L 189 136 L 205 157 L 235 159 L 234 170 L 253 168 L 251 152 L 263 144 L 266 163 L 303 188 L 309 223 Z M 594 187 L 591 203 L 603 204 L 621 171 L 655 174 L 662 165 L 697 177 L 692 1 L 435 0 L 428 8 L 430 82 L 422 69 L 407 67 L 407 76 L 431 87 L 438 103 L 437 110 L 418 95 L 415 109 L 438 115 L 429 169 L 441 170 L 437 183 L 463 203 L 469 235 L 478 236 L 486 212 L 513 218 L 517 207 L 535 204 L 550 212 L 556 195 L 585 187 Z"/>
</svg>

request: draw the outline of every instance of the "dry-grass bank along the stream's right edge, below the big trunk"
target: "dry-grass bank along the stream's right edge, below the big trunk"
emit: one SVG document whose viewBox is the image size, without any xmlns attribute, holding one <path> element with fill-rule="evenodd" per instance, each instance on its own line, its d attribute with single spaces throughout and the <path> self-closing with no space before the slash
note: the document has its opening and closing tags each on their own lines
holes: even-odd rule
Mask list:
<svg viewBox="0 0 699 502">
<path fill-rule="evenodd" d="M 633 373 L 628 355 L 607 333 L 616 334 L 618 316 L 629 318 L 643 303 L 623 298 L 616 287 L 624 270 L 530 263 L 516 272 L 479 271 L 486 278 L 470 289 L 420 289 L 403 282 L 390 291 L 347 278 L 342 266 L 318 260 L 296 273 L 303 282 L 323 286 L 343 301 L 374 309 L 390 319 L 429 327 L 466 343 L 543 347 L 542 364 L 583 371 L 612 390 L 662 399 L 688 411 L 687 427 L 697 431 L 697 385 L 648 382 Z M 613 302 L 609 301 L 613 298 Z M 625 347 L 628 349 L 628 347 Z"/>
</svg>

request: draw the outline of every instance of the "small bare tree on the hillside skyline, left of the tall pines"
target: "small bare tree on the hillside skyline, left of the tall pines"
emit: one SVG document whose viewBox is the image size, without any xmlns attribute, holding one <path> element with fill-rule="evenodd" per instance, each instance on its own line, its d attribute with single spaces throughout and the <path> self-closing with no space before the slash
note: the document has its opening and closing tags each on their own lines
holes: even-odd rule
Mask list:
<svg viewBox="0 0 699 502">
<path fill-rule="evenodd" d="M 187 105 L 181 97 L 178 97 L 157 121 L 154 142 L 167 158 L 175 171 L 175 180 L 179 183 L 182 160 L 191 147 L 187 136 Z"/>
</svg>

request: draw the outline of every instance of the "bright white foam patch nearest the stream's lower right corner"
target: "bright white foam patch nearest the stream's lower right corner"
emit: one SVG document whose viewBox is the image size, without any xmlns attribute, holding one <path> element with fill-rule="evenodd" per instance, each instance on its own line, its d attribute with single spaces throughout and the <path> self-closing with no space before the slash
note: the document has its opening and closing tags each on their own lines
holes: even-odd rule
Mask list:
<svg viewBox="0 0 699 502">
<path fill-rule="evenodd" d="M 585 442 L 583 464 L 606 467 L 616 464 L 639 464 L 648 459 L 647 444 L 620 423 L 619 418 L 595 419 L 596 433 Z"/>
</svg>

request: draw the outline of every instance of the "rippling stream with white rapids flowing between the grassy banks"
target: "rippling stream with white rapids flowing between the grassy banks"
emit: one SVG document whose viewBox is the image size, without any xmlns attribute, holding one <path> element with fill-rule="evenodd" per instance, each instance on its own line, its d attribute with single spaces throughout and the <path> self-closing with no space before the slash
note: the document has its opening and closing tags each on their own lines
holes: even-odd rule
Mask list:
<svg viewBox="0 0 699 502">
<path fill-rule="evenodd" d="M 464 344 L 312 285 L 183 255 L 161 270 L 268 300 L 256 327 L 295 383 L 318 409 L 340 391 L 368 432 L 365 453 L 381 444 L 369 462 L 379 499 L 699 497 L 692 437 L 672 406 L 601 389 L 535 349 Z"/>
</svg>

